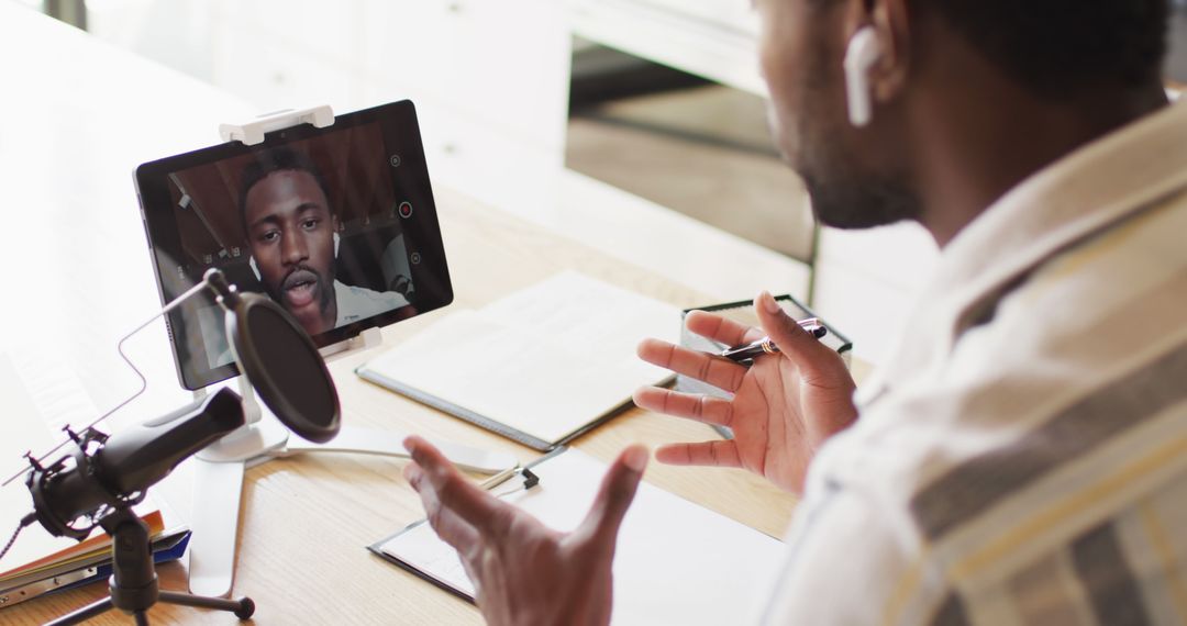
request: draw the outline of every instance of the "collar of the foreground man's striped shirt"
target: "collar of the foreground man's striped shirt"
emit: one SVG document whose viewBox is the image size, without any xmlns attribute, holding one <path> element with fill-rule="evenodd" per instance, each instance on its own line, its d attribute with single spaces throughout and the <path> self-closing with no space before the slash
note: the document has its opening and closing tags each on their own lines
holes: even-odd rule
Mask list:
<svg viewBox="0 0 1187 626">
<path fill-rule="evenodd" d="M 1035 173 L 944 249 L 891 357 L 861 398 L 942 363 L 986 302 L 1046 260 L 1187 187 L 1187 103 L 1166 107 Z"/>
</svg>

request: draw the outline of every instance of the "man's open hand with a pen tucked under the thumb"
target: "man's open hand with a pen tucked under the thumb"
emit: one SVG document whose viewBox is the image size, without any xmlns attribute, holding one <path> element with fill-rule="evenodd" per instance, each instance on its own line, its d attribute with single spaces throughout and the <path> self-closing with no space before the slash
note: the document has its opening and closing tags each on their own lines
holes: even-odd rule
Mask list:
<svg viewBox="0 0 1187 626">
<path fill-rule="evenodd" d="M 800 328 L 770 294 L 760 295 L 755 309 L 762 331 L 703 312 L 687 318 L 690 331 L 730 346 L 770 337 L 780 353 L 760 356 L 750 368 L 656 339 L 639 345 L 643 360 L 729 391 L 732 400 L 649 387 L 635 391 L 635 403 L 734 430 L 731 441 L 664 446 L 655 452 L 660 461 L 744 467 L 799 493 L 817 448 L 857 417 L 853 379 L 840 356 Z"/>
</svg>

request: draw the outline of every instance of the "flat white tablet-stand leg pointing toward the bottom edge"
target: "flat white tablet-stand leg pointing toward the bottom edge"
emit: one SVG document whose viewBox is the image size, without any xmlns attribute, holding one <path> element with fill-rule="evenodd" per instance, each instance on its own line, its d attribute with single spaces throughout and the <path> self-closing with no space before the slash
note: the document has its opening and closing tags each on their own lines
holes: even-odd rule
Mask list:
<svg viewBox="0 0 1187 626">
<path fill-rule="evenodd" d="M 195 461 L 190 592 L 226 598 L 235 575 L 243 461 L 211 462 L 201 458 Z"/>
</svg>

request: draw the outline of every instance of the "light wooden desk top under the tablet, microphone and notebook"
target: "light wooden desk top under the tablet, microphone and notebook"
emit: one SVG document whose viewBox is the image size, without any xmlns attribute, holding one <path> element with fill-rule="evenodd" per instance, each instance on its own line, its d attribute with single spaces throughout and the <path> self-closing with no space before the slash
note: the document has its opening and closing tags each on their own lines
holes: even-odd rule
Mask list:
<svg viewBox="0 0 1187 626">
<path fill-rule="evenodd" d="M 115 354 L 115 341 L 159 306 L 128 173 L 139 162 L 210 143 L 217 121 L 245 119 L 252 111 L 208 85 L 12 4 L 0 2 L 0 41 L 14 59 L 0 102 L 0 170 L 12 174 L 6 178 L 4 211 L 8 224 L 27 226 L 25 236 L 0 247 L 0 266 L 11 270 L 7 293 L 20 296 L 19 304 L 6 300 L 0 307 L 0 351 L 32 346 L 51 354 L 56 375 L 77 376 L 96 407 L 107 408 L 134 388 L 134 377 Z M 480 306 L 569 268 L 680 306 L 716 300 L 458 193 L 438 189 L 437 200 L 457 307 Z M 679 242 L 658 238 L 654 244 Z M 31 311 L 37 327 L 30 326 Z M 407 338 L 440 313 L 387 328 L 385 343 Z M 177 387 L 163 328 L 145 331 L 129 345 L 148 378 L 148 391 L 121 413 L 122 419 L 161 415 L 188 400 Z M 523 460 L 535 455 L 360 381 L 351 370 L 370 356 L 331 364 L 347 424 L 501 448 Z M 4 409 L 0 398 L 0 414 Z M 633 441 L 654 446 L 712 436 L 707 427 L 636 409 L 585 435 L 576 447 L 609 460 Z M 0 460 L 5 473 L 13 465 Z M 186 465 L 153 490 L 183 517 L 191 506 Z M 471 605 L 364 549 L 423 516 L 400 477 L 402 466 L 389 459 L 326 454 L 248 471 L 234 593 L 256 601 L 256 622 L 480 621 Z M 646 479 L 772 535 L 782 532 L 793 506 L 791 497 L 740 471 L 653 464 Z M 0 512 L 0 524 L 15 522 L 23 512 Z M 185 575 L 180 563 L 161 567 L 163 588 L 185 589 Z M 0 621 L 37 624 L 106 593 L 106 586 L 91 585 L 31 600 L 0 611 Z M 227 613 L 167 605 L 154 607 L 150 618 L 153 624 L 236 622 Z M 95 622 L 131 621 L 109 613 Z"/>
</svg>

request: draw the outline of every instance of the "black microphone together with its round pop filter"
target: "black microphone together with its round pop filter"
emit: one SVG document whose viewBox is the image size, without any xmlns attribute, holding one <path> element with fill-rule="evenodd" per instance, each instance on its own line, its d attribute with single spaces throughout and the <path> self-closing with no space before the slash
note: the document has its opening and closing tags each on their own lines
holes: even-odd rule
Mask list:
<svg viewBox="0 0 1187 626">
<path fill-rule="evenodd" d="M 338 394 L 304 328 L 271 299 L 240 293 L 217 269 L 207 272 L 201 288 L 215 292 L 227 311 L 235 359 L 273 414 L 304 439 L 318 443 L 334 439 L 342 419 Z M 174 299 L 163 313 L 199 290 L 196 286 Z M 95 428 L 81 435 L 66 430 L 72 452 L 45 465 L 28 455 L 32 470 L 25 484 L 33 496 L 36 518 L 51 535 L 83 539 L 104 516 L 141 502 L 145 491 L 177 464 L 245 422 L 242 398 L 221 389 L 115 435 Z M 90 524 L 75 525 L 81 518 Z M 26 519 L 23 525 L 32 523 Z"/>
</svg>

